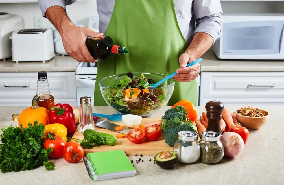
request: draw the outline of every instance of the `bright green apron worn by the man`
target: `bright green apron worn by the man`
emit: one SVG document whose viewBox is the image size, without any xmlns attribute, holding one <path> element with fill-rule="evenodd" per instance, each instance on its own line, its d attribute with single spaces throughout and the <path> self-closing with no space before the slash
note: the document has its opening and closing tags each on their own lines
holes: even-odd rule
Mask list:
<svg viewBox="0 0 284 185">
<path fill-rule="evenodd" d="M 179 57 L 188 46 L 178 26 L 173 0 L 117 0 L 104 34 L 131 53 L 98 62 L 95 106 L 107 105 L 99 88 L 102 78 L 128 72 L 168 75 L 180 68 Z M 176 81 L 168 105 L 182 99 L 197 105 L 197 93 L 196 80 Z"/>
</svg>

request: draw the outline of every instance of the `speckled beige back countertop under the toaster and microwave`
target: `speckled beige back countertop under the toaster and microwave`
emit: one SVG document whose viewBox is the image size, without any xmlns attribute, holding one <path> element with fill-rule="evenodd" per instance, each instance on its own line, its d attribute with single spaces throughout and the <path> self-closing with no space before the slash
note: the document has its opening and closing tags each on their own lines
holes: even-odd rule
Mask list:
<svg viewBox="0 0 284 185">
<path fill-rule="evenodd" d="M 207 51 L 200 62 L 201 71 L 284 71 L 284 60 L 221 60 L 213 51 Z M 1 72 L 75 72 L 79 64 L 70 56 L 55 56 L 43 62 L 13 62 L 0 60 Z"/>
</svg>

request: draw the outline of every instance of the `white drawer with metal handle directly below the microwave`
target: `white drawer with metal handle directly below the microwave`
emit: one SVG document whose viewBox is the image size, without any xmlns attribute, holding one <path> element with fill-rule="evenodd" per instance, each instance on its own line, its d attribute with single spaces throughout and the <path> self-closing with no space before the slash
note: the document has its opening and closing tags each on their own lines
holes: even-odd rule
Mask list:
<svg viewBox="0 0 284 185">
<path fill-rule="evenodd" d="M 284 98 L 284 72 L 202 72 L 200 98 Z"/>
</svg>

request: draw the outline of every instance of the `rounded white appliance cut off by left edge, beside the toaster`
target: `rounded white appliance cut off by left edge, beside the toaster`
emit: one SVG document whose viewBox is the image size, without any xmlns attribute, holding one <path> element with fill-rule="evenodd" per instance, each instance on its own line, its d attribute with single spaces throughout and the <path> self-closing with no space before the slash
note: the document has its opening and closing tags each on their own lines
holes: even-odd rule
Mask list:
<svg viewBox="0 0 284 185">
<path fill-rule="evenodd" d="M 0 12 L 0 60 L 12 56 L 12 42 L 9 37 L 15 30 L 23 29 L 23 21 L 19 15 Z"/>
</svg>

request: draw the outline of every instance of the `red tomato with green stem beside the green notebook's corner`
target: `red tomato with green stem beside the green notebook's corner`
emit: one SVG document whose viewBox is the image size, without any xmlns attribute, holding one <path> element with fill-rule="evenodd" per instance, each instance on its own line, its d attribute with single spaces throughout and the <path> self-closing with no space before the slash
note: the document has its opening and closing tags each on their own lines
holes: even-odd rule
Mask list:
<svg viewBox="0 0 284 185">
<path fill-rule="evenodd" d="M 84 150 L 78 143 L 68 142 L 63 149 L 63 158 L 67 162 L 78 162 L 84 156 Z"/>
</svg>

